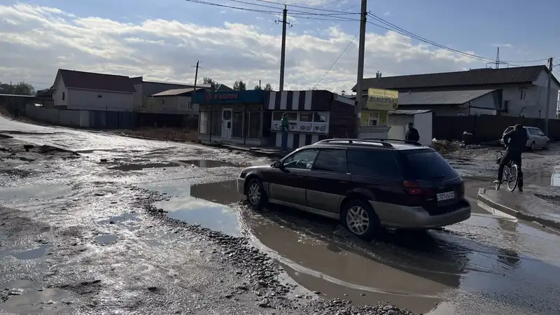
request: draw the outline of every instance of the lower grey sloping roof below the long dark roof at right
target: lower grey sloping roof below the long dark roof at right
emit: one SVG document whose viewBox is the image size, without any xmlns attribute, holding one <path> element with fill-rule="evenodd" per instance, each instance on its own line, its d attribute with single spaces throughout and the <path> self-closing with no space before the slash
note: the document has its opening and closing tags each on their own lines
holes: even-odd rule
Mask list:
<svg viewBox="0 0 560 315">
<path fill-rule="evenodd" d="M 400 92 L 400 105 L 461 105 L 495 90 Z"/>
</svg>

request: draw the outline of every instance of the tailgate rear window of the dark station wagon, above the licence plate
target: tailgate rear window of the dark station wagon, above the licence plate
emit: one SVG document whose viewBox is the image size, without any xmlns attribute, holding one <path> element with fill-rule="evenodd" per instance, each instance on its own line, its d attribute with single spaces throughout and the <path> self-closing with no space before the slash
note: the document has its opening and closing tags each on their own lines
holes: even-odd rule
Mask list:
<svg viewBox="0 0 560 315">
<path fill-rule="evenodd" d="M 405 178 L 416 181 L 445 181 L 458 176 L 447 161 L 435 151 L 405 153 L 402 158 Z"/>
</svg>

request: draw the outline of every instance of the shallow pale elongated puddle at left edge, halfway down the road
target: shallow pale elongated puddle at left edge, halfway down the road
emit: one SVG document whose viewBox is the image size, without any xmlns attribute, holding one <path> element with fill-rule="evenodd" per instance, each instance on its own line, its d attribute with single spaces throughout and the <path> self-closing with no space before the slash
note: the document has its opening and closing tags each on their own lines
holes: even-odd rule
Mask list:
<svg viewBox="0 0 560 315">
<path fill-rule="evenodd" d="M 64 185 L 25 185 L 15 187 L 0 187 L 0 200 L 13 202 L 29 200 L 29 198 L 52 199 L 68 194 L 70 188 Z"/>
</svg>

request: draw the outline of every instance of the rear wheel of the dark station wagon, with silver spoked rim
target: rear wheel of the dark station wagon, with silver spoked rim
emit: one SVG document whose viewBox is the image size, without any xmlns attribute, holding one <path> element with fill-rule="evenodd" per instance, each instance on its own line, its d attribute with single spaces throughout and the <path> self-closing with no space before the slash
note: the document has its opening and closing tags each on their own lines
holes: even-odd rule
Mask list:
<svg viewBox="0 0 560 315">
<path fill-rule="evenodd" d="M 342 223 L 353 235 L 370 241 L 379 232 L 379 217 L 373 207 L 363 200 L 349 200 L 344 203 Z"/>
</svg>

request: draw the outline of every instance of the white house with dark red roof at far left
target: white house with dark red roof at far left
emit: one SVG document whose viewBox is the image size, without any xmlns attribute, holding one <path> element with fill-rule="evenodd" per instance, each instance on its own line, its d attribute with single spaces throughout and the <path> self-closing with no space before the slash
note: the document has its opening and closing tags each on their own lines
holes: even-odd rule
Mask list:
<svg viewBox="0 0 560 315">
<path fill-rule="evenodd" d="M 127 76 L 59 69 L 54 105 L 64 109 L 132 111 L 136 92 Z"/>
</svg>

